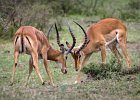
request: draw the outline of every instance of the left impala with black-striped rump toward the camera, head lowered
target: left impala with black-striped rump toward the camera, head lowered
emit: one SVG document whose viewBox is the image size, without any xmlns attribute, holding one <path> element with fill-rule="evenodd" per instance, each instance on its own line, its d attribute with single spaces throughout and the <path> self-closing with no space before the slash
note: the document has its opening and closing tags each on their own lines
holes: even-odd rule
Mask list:
<svg viewBox="0 0 140 100">
<path fill-rule="evenodd" d="M 33 68 L 35 69 L 38 77 L 40 78 L 42 84 L 44 84 L 44 81 L 42 79 L 42 76 L 40 75 L 40 71 L 38 68 L 38 59 L 42 58 L 44 60 L 44 66 L 46 69 L 46 72 L 49 76 L 50 84 L 53 85 L 52 75 L 50 72 L 50 69 L 48 67 L 48 61 L 52 60 L 56 61 L 58 63 L 62 64 L 62 73 L 67 73 L 66 70 L 66 58 L 67 55 L 71 52 L 75 45 L 75 37 L 72 32 L 71 36 L 73 38 L 73 46 L 68 51 L 64 48 L 63 44 L 60 44 L 59 40 L 59 33 L 55 24 L 56 33 L 57 33 L 57 43 L 60 47 L 59 50 L 55 50 L 51 47 L 51 45 L 48 42 L 47 37 L 42 31 L 39 31 L 38 29 L 32 27 L 32 26 L 21 26 L 17 32 L 15 33 L 15 40 L 14 40 L 14 64 L 13 64 L 13 74 L 11 78 L 11 83 L 13 84 L 14 80 L 14 74 L 16 71 L 16 66 L 18 62 L 18 56 L 20 53 L 26 53 L 31 55 L 31 58 L 29 60 L 29 75 L 27 78 L 27 81 L 31 75 L 31 72 Z M 50 28 L 51 30 L 51 28 Z M 50 32 L 50 31 L 49 31 Z M 49 33 L 48 33 L 49 34 Z"/>
</svg>

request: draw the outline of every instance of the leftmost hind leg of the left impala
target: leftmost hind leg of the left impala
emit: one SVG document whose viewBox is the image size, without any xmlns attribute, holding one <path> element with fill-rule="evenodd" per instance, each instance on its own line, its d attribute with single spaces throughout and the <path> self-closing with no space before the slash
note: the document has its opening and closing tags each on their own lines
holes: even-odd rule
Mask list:
<svg viewBox="0 0 140 100">
<path fill-rule="evenodd" d="M 12 72 L 12 78 L 11 78 L 11 85 L 13 85 L 13 82 L 14 82 L 14 76 L 15 76 L 16 66 L 17 66 L 17 62 L 18 62 L 18 56 L 19 56 L 19 52 L 15 51 L 14 52 L 14 64 L 13 64 L 13 72 Z"/>
</svg>

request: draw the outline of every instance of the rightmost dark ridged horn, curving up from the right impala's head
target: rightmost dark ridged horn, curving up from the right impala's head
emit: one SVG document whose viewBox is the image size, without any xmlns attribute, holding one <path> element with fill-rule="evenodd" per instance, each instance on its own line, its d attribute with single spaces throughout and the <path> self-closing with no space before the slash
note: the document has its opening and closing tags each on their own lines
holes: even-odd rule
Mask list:
<svg viewBox="0 0 140 100">
<path fill-rule="evenodd" d="M 75 22 L 75 21 L 74 21 L 74 23 L 76 23 L 82 29 L 82 31 L 84 32 L 84 35 L 85 35 L 85 39 L 84 39 L 83 44 L 76 51 L 76 54 L 79 54 L 79 52 L 86 47 L 86 45 L 88 44 L 89 41 L 87 39 L 87 34 L 86 34 L 85 30 L 83 29 L 83 27 L 80 24 L 78 24 L 77 22 Z"/>
</svg>

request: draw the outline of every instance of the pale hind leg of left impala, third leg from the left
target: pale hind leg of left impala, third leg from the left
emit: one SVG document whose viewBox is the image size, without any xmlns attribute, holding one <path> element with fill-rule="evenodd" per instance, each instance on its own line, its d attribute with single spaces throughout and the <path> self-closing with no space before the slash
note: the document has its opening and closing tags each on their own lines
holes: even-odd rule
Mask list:
<svg viewBox="0 0 140 100">
<path fill-rule="evenodd" d="M 40 71 L 39 71 L 39 67 L 38 67 L 38 54 L 37 52 L 31 52 L 31 56 L 32 56 L 32 59 L 33 59 L 33 67 L 35 68 L 35 71 L 38 75 L 38 77 L 40 78 L 41 82 L 42 82 L 42 85 L 44 84 L 44 81 L 42 79 L 42 76 L 40 74 Z"/>
</svg>

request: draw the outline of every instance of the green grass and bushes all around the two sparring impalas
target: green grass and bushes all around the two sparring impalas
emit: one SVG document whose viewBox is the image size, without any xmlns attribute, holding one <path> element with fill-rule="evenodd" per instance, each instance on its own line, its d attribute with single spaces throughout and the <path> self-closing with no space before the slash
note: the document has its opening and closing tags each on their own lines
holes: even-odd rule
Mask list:
<svg viewBox="0 0 140 100">
<path fill-rule="evenodd" d="M 63 75 L 55 62 L 49 61 L 55 87 L 42 86 L 33 71 L 27 87 L 28 55 L 21 55 L 15 82 L 9 86 L 13 65 L 13 37 L 22 25 L 31 25 L 44 33 L 55 22 L 61 35 L 61 42 L 72 38 L 66 20 L 76 36 L 76 46 L 82 42 L 83 33 L 74 23 L 84 29 L 103 18 L 122 20 L 128 31 L 127 48 L 132 62 L 128 70 L 125 61 L 121 65 L 109 49 L 107 64 L 101 65 L 100 53 L 94 53 L 82 70 L 82 83 L 74 84 L 77 72 L 71 55 L 67 59 L 68 73 Z M 140 99 L 140 0 L 0 0 L 0 99 L 1 100 L 139 100 Z M 47 34 L 46 34 L 47 35 Z M 59 49 L 56 33 L 51 31 L 49 42 Z M 48 80 L 43 61 L 39 68 L 44 80 Z"/>
</svg>

